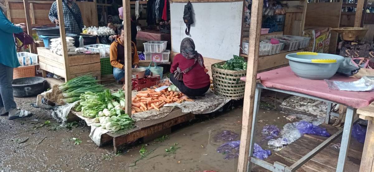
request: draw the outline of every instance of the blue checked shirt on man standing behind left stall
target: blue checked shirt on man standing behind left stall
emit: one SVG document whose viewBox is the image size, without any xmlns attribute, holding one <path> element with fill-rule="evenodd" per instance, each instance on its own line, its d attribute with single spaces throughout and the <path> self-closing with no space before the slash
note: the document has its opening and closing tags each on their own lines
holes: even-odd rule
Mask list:
<svg viewBox="0 0 374 172">
<path fill-rule="evenodd" d="M 66 0 L 63 0 L 66 2 Z M 77 20 L 80 21 L 80 24 L 76 22 L 74 19 L 74 15 L 70 12 L 67 6 L 65 6 L 65 3 L 62 3 L 62 11 L 64 13 L 64 22 L 65 27 L 68 29 L 65 30 L 66 34 L 77 34 L 79 35 L 82 33 L 83 28 L 83 19 L 82 14 L 80 13 L 80 9 L 78 5 L 73 1 L 73 4 L 71 5 L 71 10 L 75 13 L 75 16 L 77 17 Z M 58 19 L 58 12 L 57 12 L 57 3 L 56 1 L 53 2 L 52 7 L 50 7 L 49 15 L 48 15 L 50 21 L 54 23 L 55 19 Z"/>
</svg>

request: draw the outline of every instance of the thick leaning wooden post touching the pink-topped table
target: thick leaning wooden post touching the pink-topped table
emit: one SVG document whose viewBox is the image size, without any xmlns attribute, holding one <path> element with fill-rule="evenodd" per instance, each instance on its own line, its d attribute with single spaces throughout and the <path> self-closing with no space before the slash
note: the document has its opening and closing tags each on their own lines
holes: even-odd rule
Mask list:
<svg viewBox="0 0 374 172">
<path fill-rule="evenodd" d="M 251 171 L 249 163 L 249 142 L 252 130 L 252 118 L 254 110 L 254 95 L 257 79 L 258 54 L 260 51 L 260 31 L 262 20 L 262 0 L 252 1 L 251 24 L 249 27 L 248 66 L 245 82 L 242 135 L 240 136 L 240 151 L 237 172 Z"/>
</svg>

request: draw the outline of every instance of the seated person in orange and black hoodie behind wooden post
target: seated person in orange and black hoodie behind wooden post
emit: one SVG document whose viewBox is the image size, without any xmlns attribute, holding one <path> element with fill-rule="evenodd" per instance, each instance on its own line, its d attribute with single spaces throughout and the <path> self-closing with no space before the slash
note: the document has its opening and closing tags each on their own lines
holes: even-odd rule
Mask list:
<svg viewBox="0 0 374 172">
<path fill-rule="evenodd" d="M 123 46 L 123 40 L 125 40 L 125 32 L 123 26 L 118 29 L 119 38 L 110 45 L 110 64 L 113 66 L 113 76 L 117 82 L 125 81 L 125 46 Z M 131 64 L 132 68 L 139 67 L 139 56 L 137 47 L 133 41 L 131 41 Z M 150 71 L 145 71 L 146 75 L 149 75 Z"/>
</svg>

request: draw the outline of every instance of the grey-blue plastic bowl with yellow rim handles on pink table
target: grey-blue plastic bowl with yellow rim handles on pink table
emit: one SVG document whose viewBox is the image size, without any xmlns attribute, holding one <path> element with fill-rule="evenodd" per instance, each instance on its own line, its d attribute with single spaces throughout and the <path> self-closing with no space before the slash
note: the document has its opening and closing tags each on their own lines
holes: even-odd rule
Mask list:
<svg viewBox="0 0 374 172">
<path fill-rule="evenodd" d="M 340 55 L 314 52 L 290 53 L 286 59 L 291 70 L 302 79 L 329 79 L 344 61 Z"/>
</svg>

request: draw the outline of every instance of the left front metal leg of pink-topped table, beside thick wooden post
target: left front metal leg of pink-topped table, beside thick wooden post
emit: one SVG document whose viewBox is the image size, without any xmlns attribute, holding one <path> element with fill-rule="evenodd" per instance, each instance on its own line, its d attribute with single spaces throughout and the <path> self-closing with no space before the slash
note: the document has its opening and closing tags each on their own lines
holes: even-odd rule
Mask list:
<svg viewBox="0 0 374 172">
<path fill-rule="evenodd" d="M 260 87 L 256 87 L 256 90 L 255 90 L 255 99 L 254 99 L 255 107 L 253 108 L 252 130 L 251 130 L 251 138 L 249 142 L 249 162 L 248 162 L 247 172 L 251 172 L 252 170 L 251 157 L 253 156 L 253 146 L 254 146 L 254 138 L 255 138 L 254 131 L 255 131 L 255 126 L 257 122 L 258 107 L 260 107 L 261 90 L 262 89 Z"/>
</svg>

